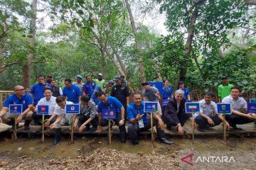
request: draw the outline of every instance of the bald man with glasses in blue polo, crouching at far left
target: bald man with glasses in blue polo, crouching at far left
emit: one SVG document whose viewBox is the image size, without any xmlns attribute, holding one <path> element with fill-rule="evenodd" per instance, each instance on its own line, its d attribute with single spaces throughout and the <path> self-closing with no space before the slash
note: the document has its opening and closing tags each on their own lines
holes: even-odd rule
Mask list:
<svg viewBox="0 0 256 170">
<path fill-rule="evenodd" d="M 7 113 L 9 111 L 10 104 L 22 104 L 23 112 L 26 110 L 26 108 L 33 107 L 33 98 L 28 94 L 25 94 L 25 89 L 23 86 L 14 86 L 14 94 L 6 99 L 4 102 L 4 107 L 0 111 L 0 122 L 14 125 L 14 115 Z M 25 122 L 25 129 L 29 123 L 29 121 Z"/>
</svg>

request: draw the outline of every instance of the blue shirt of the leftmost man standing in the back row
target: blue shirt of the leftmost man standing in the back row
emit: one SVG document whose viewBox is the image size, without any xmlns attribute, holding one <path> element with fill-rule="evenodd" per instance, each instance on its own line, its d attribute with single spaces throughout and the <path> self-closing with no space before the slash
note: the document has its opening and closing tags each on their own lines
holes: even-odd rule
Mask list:
<svg viewBox="0 0 256 170">
<path fill-rule="evenodd" d="M 48 88 L 52 89 L 50 84 L 46 83 L 45 85 L 43 84 L 34 84 L 31 87 L 30 93 L 33 94 L 33 104 L 34 106 L 37 105 L 38 101 L 40 101 L 41 98 L 44 98 L 43 96 L 43 90 L 48 86 Z"/>
</svg>

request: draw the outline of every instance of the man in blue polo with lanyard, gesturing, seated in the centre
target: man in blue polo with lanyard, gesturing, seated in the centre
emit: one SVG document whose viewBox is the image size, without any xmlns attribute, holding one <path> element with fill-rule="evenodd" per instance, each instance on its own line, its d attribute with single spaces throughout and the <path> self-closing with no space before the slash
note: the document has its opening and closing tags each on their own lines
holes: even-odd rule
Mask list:
<svg viewBox="0 0 256 170">
<path fill-rule="evenodd" d="M 146 118 L 146 113 L 144 113 L 144 102 L 142 102 L 142 94 L 136 92 L 132 96 L 132 103 L 129 104 L 127 108 L 127 115 L 129 120 L 128 134 L 131 137 L 132 144 L 139 144 L 137 140 L 137 133 L 149 130 L 151 128 L 151 118 Z M 149 113 L 150 114 L 150 113 Z M 158 113 L 153 115 L 153 126 L 156 125 L 157 135 L 161 142 L 167 145 L 174 144 L 174 142 L 166 139 L 164 134 L 164 122 Z"/>
</svg>

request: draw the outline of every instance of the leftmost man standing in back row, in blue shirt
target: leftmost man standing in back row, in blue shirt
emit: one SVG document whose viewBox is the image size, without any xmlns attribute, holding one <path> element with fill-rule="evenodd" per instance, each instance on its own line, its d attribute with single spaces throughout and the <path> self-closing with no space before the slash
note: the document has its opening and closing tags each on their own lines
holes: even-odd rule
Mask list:
<svg viewBox="0 0 256 170">
<path fill-rule="evenodd" d="M 38 76 L 38 84 L 34 84 L 32 87 L 31 87 L 31 91 L 30 93 L 32 94 L 33 96 L 33 105 L 36 106 L 38 101 L 40 101 L 41 98 L 44 98 L 44 95 L 43 95 L 43 90 L 48 87 L 50 89 L 51 86 L 50 84 L 48 84 L 45 80 L 45 77 L 44 76 L 41 76 L 39 75 Z"/>
</svg>

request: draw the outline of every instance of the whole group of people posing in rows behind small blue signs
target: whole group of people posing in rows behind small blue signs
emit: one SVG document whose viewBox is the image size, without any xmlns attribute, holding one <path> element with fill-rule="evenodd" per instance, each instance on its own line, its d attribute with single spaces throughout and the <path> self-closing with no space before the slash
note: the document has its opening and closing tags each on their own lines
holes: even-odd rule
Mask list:
<svg viewBox="0 0 256 170">
<path fill-rule="evenodd" d="M 168 129 L 176 127 L 179 135 L 183 135 L 183 125 L 191 116 L 186 114 L 185 102 L 191 101 L 188 88 L 184 87 L 182 81 L 178 82 L 177 89 L 173 91 L 169 86 L 169 81 L 164 80 L 163 93 L 159 94 L 159 89 L 150 86 L 149 82 L 142 83 L 142 93 L 136 91 L 129 93 L 124 77 L 115 77 L 114 81 L 102 79 L 102 74 L 98 74 L 97 79 L 86 76 L 85 83 L 82 76 L 77 75 L 76 81 L 65 79 L 65 87 L 61 89 L 56 86 L 53 77 L 38 76 L 38 83 L 31 87 L 30 94 L 26 93 L 23 86 L 14 86 L 14 94 L 9 96 L 4 102 L 4 107 L 0 111 L 0 121 L 14 125 L 14 115 L 9 113 L 10 104 L 22 104 L 22 113 L 18 115 L 17 122 L 25 120 L 24 129 L 29 130 L 32 120 L 41 125 L 41 115 L 37 114 L 38 106 L 49 106 L 49 115 L 45 115 L 45 127 L 55 129 L 54 145 L 60 142 L 61 125 L 70 121 L 74 122 L 74 130 L 79 132 L 91 131 L 100 134 L 102 127 L 108 124 L 102 118 L 102 113 L 112 111 L 116 118 L 113 120 L 119 126 L 119 137 L 121 142 L 126 142 L 127 132 L 125 124 L 128 122 L 128 136 L 133 145 L 137 145 L 138 133 L 151 128 L 150 113 L 144 112 L 144 101 L 154 101 L 158 103 L 158 111 L 153 114 L 153 125 L 156 126 L 159 140 L 166 145 L 174 142 L 166 138 L 165 124 Z M 130 96 L 132 101 L 130 102 Z M 222 84 L 218 86 L 218 102 L 230 103 L 232 114 L 227 115 L 226 120 L 223 115 L 218 114 L 216 103 L 213 101 L 213 92 L 206 92 L 204 98 L 199 101 L 200 111 L 192 118 L 192 124 L 198 130 L 211 130 L 211 127 L 219 125 L 225 121 L 226 128 L 230 126 L 235 130 L 237 124 L 251 123 L 255 120 L 254 113 L 247 113 L 247 103 L 241 96 L 241 89 L 228 84 L 228 78 L 223 77 Z M 73 120 L 69 114 L 65 114 L 67 104 L 79 103 L 80 114 L 75 115 Z M 194 121 L 193 121 L 194 120 Z M 41 130 L 41 128 L 40 128 Z"/>
</svg>

